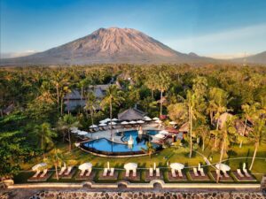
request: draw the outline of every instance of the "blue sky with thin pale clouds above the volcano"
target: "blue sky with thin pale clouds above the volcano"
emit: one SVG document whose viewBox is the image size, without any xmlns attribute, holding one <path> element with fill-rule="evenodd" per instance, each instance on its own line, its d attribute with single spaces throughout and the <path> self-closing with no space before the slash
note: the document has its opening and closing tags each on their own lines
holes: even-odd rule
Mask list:
<svg viewBox="0 0 266 199">
<path fill-rule="evenodd" d="M 200 56 L 266 50 L 265 0 L 0 0 L 0 50 L 18 57 L 100 27 L 130 27 Z"/>
</svg>

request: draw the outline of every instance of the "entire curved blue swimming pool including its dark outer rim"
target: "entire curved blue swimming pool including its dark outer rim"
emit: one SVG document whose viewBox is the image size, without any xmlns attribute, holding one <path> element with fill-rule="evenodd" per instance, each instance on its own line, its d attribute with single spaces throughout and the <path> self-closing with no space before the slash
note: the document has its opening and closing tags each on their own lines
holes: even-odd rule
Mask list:
<svg viewBox="0 0 266 199">
<path fill-rule="evenodd" d="M 106 138 L 100 138 L 90 142 L 83 142 L 82 148 L 89 149 L 92 152 L 104 154 L 108 156 L 119 155 L 134 155 L 144 154 L 142 149 L 146 149 L 146 142 L 152 141 L 150 135 L 158 134 L 157 131 L 146 131 L 146 134 L 138 135 L 137 131 L 126 131 L 116 133 L 117 136 L 121 136 L 121 141 L 125 143 L 116 143 L 107 140 Z M 134 141 L 133 145 L 128 145 L 130 136 Z M 156 143 L 152 143 L 155 149 L 160 149 L 161 146 Z"/>
</svg>

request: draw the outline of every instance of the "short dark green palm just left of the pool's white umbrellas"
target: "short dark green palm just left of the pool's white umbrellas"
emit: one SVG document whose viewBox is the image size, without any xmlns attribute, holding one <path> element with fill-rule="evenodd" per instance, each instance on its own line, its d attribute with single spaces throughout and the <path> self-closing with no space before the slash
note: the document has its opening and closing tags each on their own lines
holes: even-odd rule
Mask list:
<svg viewBox="0 0 266 199">
<path fill-rule="evenodd" d="M 71 114 L 67 114 L 63 118 L 59 119 L 58 126 L 59 126 L 58 127 L 59 130 L 62 130 L 64 133 L 65 133 L 65 131 L 67 131 L 68 143 L 69 143 L 68 150 L 71 151 L 72 142 L 71 142 L 70 129 L 72 127 L 80 126 L 79 121 L 74 116 L 72 116 Z"/>
</svg>

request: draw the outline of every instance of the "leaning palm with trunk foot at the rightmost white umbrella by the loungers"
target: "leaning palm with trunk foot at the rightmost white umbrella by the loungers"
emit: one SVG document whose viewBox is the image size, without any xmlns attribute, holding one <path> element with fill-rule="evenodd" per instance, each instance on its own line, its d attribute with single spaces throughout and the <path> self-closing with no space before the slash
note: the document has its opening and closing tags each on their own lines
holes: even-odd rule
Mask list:
<svg viewBox="0 0 266 199">
<path fill-rule="evenodd" d="M 224 152 L 227 150 L 228 146 L 230 145 L 230 143 L 232 142 L 232 140 L 235 140 L 234 137 L 237 136 L 236 135 L 236 129 L 234 126 L 234 121 L 235 121 L 235 117 L 233 116 L 229 116 L 227 115 L 226 121 L 223 125 L 223 128 L 221 130 L 219 130 L 219 135 L 221 136 L 221 150 L 220 150 L 220 158 L 219 158 L 219 164 L 222 164 L 223 161 L 223 155 Z M 219 166 L 218 168 L 219 172 L 217 174 L 217 178 L 216 178 L 216 183 L 219 182 L 220 180 L 220 172 L 221 172 L 221 167 Z"/>
</svg>

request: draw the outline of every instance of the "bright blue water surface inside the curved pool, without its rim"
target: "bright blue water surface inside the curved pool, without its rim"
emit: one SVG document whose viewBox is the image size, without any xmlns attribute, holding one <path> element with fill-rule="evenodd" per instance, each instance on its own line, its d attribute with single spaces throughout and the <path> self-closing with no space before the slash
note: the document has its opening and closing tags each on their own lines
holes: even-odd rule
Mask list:
<svg viewBox="0 0 266 199">
<path fill-rule="evenodd" d="M 115 133 L 114 133 L 115 134 Z M 106 151 L 106 152 L 137 152 L 142 149 L 146 149 L 146 142 L 152 140 L 152 137 L 149 136 L 158 134 L 157 131 L 147 131 L 146 134 L 138 135 L 137 131 L 127 131 L 123 133 L 116 133 L 121 136 L 121 141 L 127 142 L 129 141 L 130 135 L 134 140 L 134 144 L 129 146 L 128 144 L 121 144 L 116 142 L 111 142 L 105 138 L 101 138 L 98 140 L 84 142 L 82 145 L 86 148 L 96 149 L 98 151 Z M 152 143 L 154 148 L 159 148 L 159 144 Z"/>
</svg>

